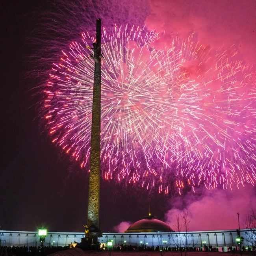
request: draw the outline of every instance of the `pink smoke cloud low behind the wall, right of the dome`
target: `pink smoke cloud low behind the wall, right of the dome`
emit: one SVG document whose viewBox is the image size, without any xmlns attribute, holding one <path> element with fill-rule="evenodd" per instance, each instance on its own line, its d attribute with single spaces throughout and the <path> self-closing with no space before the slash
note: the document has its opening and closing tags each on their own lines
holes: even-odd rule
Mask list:
<svg viewBox="0 0 256 256">
<path fill-rule="evenodd" d="M 246 187 L 232 191 L 211 190 L 197 199 L 188 195 L 184 200 L 191 219 L 189 230 L 238 229 L 238 212 L 240 228 L 246 228 L 246 217 L 255 208 L 255 192 L 255 187 Z M 165 222 L 171 228 L 176 226 L 176 216 L 182 214 L 181 208 L 179 202 L 173 202 L 173 208 L 165 214 Z"/>
</svg>

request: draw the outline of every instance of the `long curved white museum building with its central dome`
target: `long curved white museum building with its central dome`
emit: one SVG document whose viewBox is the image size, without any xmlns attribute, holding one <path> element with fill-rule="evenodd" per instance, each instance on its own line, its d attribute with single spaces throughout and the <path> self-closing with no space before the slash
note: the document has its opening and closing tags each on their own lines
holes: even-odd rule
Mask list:
<svg viewBox="0 0 256 256">
<path fill-rule="evenodd" d="M 144 247 L 184 247 L 202 248 L 208 247 L 237 247 L 236 238 L 239 236 L 238 230 L 209 230 L 209 231 L 189 231 L 175 232 L 166 223 L 155 219 L 154 216 L 146 216 L 145 219 L 132 224 L 124 233 L 103 233 L 99 238 L 101 243 L 113 240 L 113 245 L 132 245 Z M 250 230 L 241 229 L 240 236 L 244 237 L 244 245 L 250 245 Z M 85 236 L 82 232 L 48 232 L 45 236 L 45 246 L 66 246 L 71 243 L 80 242 Z M 41 245 L 38 231 L 0 231 L 1 245 L 6 246 L 39 246 Z"/>
</svg>

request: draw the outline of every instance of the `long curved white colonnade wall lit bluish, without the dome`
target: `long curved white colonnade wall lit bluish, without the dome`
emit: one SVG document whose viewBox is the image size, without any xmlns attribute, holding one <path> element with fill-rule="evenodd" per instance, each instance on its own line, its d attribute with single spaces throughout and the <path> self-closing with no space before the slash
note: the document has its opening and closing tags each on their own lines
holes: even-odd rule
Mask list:
<svg viewBox="0 0 256 256">
<path fill-rule="evenodd" d="M 241 236 L 245 238 L 244 245 L 250 245 L 246 237 L 250 231 L 243 229 L 240 230 Z M 45 237 L 45 246 L 65 246 L 71 243 L 80 242 L 84 237 L 84 233 L 80 232 L 48 232 Z M 185 244 L 185 238 L 188 240 L 188 247 L 203 247 L 202 241 L 206 241 L 206 245 L 212 245 L 213 247 L 225 247 L 225 246 L 237 246 L 236 230 L 213 230 L 213 231 L 194 231 L 194 232 L 141 232 L 141 233 L 103 233 L 103 236 L 99 238 L 100 242 L 106 242 L 107 240 L 113 240 L 113 244 L 126 244 L 132 246 L 139 246 L 141 244 L 147 244 L 151 247 L 168 246 L 174 247 L 175 244 Z M 1 245 L 6 246 L 39 246 L 38 232 L 30 231 L 0 231 Z M 181 243 L 180 243 L 181 239 Z M 126 242 L 124 242 L 126 241 Z M 163 241 L 167 241 L 166 244 Z M 184 245 L 183 245 L 184 246 Z"/>
</svg>

